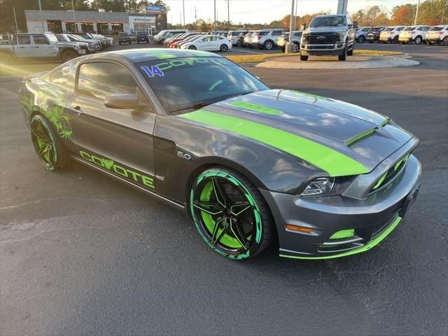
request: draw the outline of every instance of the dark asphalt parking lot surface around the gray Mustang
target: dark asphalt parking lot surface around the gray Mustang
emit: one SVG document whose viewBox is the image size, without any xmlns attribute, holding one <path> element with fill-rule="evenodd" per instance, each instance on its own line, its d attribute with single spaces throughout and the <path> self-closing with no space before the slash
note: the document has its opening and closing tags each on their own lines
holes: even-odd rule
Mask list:
<svg viewBox="0 0 448 336">
<path fill-rule="evenodd" d="M 78 164 L 46 172 L 20 80 L 1 79 L 0 334 L 447 335 L 448 48 L 362 48 L 404 49 L 421 64 L 245 66 L 271 87 L 384 113 L 421 140 L 422 186 L 407 218 L 371 251 L 319 262 L 274 247 L 226 260 L 147 195 Z"/>
</svg>

